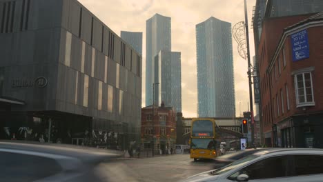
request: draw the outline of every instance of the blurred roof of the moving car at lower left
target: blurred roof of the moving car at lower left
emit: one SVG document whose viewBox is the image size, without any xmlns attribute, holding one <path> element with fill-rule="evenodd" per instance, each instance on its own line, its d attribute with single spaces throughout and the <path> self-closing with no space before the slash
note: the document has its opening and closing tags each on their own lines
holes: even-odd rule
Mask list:
<svg viewBox="0 0 323 182">
<path fill-rule="evenodd" d="M 104 150 L 77 145 L 39 143 L 30 141 L 0 141 L 0 149 L 56 154 L 77 158 L 85 163 L 92 163 L 101 161 L 102 159 L 112 159 L 121 156 L 121 152 L 116 150 Z"/>
</svg>

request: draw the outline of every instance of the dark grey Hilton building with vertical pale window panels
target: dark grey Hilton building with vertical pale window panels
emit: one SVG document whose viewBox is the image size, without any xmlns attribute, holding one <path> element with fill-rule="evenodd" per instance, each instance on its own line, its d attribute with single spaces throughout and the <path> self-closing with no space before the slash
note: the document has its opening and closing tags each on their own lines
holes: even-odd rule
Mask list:
<svg viewBox="0 0 323 182">
<path fill-rule="evenodd" d="M 115 32 L 76 0 L 1 0 L 0 20 L 2 139 L 139 140 L 141 55 Z"/>
</svg>

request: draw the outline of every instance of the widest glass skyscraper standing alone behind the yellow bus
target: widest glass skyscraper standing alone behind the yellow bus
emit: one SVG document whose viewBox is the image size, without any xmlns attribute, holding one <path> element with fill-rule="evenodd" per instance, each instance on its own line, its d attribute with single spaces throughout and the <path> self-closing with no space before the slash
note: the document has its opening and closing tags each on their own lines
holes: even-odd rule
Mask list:
<svg viewBox="0 0 323 182">
<path fill-rule="evenodd" d="M 197 24 L 196 43 L 199 117 L 235 117 L 231 23 Z"/>
</svg>

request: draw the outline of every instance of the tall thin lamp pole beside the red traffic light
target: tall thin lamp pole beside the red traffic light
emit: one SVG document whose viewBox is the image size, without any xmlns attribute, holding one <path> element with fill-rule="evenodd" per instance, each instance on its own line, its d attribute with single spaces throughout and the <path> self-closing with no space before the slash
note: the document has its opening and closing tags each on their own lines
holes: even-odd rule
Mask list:
<svg viewBox="0 0 323 182">
<path fill-rule="evenodd" d="M 251 144 L 253 145 L 255 141 L 254 134 L 254 121 L 253 121 L 253 90 L 251 88 L 251 61 L 250 61 L 250 44 L 249 44 L 249 30 L 248 30 L 248 11 L 246 6 L 246 0 L 244 0 L 244 18 L 245 18 L 245 28 L 246 28 L 246 46 L 247 46 L 247 58 L 248 58 L 248 81 L 249 81 L 249 99 L 250 99 L 250 111 L 251 111 Z"/>
</svg>

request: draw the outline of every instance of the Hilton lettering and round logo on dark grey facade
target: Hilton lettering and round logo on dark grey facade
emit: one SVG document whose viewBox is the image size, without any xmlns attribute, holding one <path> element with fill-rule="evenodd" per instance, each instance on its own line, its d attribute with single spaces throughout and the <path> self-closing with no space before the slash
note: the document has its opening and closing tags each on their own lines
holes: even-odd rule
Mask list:
<svg viewBox="0 0 323 182">
<path fill-rule="evenodd" d="M 47 84 L 48 81 L 45 77 L 38 77 L 35 80 L 14 79 L 11 81 L 12 88 L 45 88 Z"/>
</svg>

